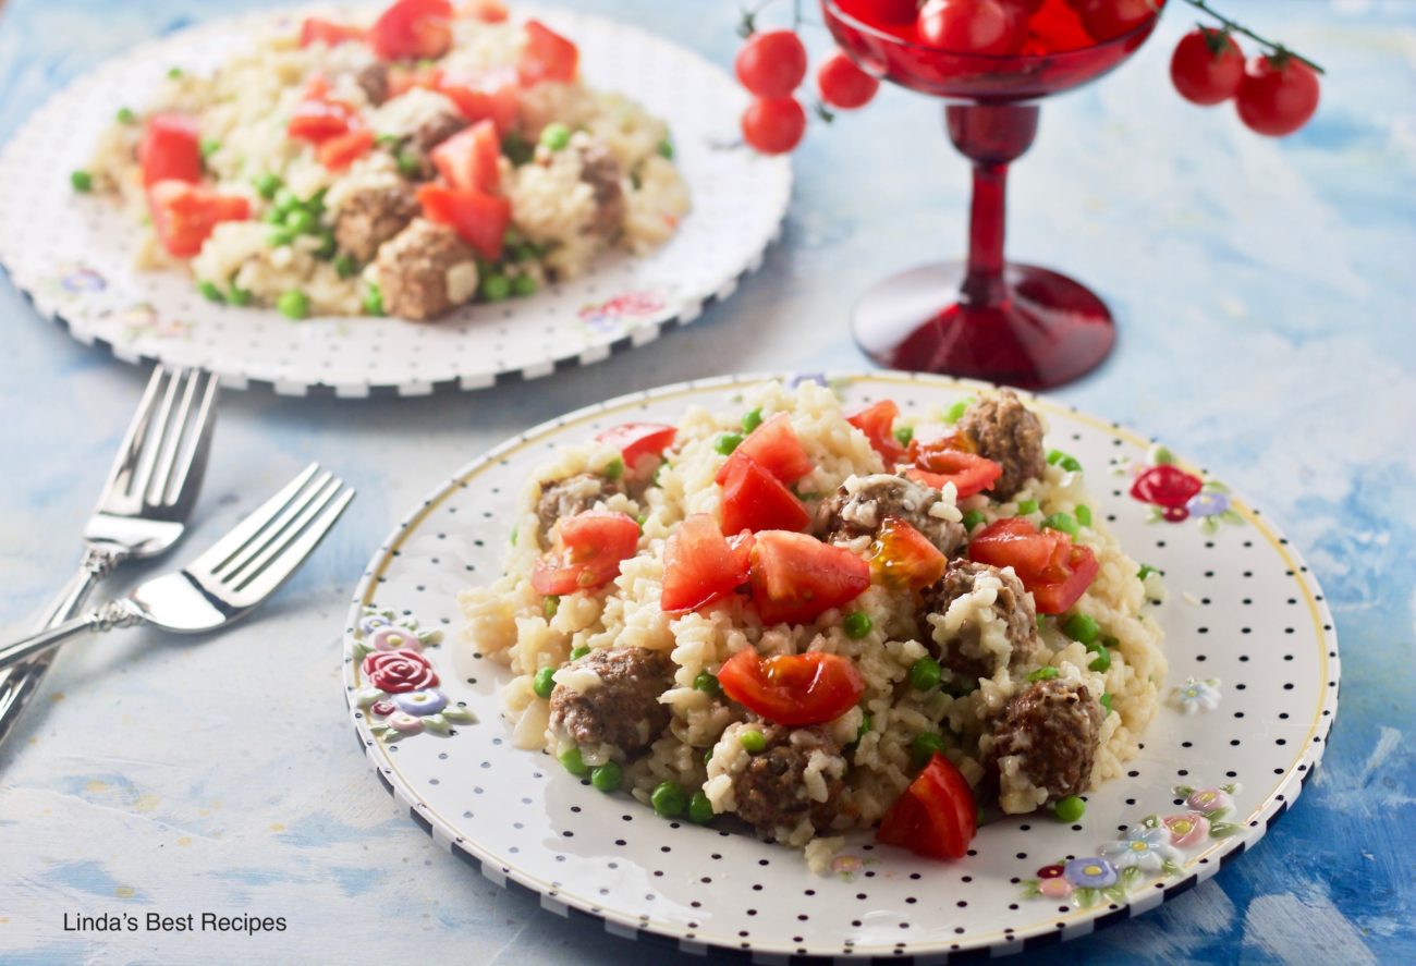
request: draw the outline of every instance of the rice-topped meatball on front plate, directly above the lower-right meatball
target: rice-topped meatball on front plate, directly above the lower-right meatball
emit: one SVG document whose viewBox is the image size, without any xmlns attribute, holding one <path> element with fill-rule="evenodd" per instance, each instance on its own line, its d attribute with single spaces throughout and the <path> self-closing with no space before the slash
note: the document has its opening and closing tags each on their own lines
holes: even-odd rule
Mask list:
<svg viewBox="0 0 1416 966">
<path fill-rule="evenodd" d="M 936 633 L 944 635 L 943 627 L 936 630 L 927 619 L 927 615 L 932 613 L 947 613 L 949 605 L 973 593 L 978 578 L 984 575 L 997 578 L 1003 585 L 990 610 L 994 620 L 1001 623 L 1004 636 L 1012 649 L 1005 661 L 1003 654 L 983 646 L 983 629 L 977 619 L 964 622 L 943 643 L 935 636 Z M 997 567 L 974 564 L 967 559 L 949 561 L 949 568 L 939 582 L 925 589 L 919 613 L 920 637 L 939 650 L 939 663 L 966 678 L 993 677 L 1004 663 L 1010 667 L 1018 667 L 1037 659 L 1039 647 L 1038 615 L 1032 609 L 1032 601 L 1024 589 L 1022 581 Z"/>
</svg>

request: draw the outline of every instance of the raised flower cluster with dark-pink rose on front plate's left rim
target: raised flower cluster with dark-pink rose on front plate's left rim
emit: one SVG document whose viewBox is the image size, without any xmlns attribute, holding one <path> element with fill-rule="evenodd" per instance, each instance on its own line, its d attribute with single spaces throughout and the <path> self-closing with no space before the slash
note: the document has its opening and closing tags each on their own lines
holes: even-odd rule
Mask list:
<svg viewBox="0 0 1416 966">
<path fill-rule="evenodd" d="M 438 671 L 423 654 L 442 643 L 442 632 L 422 630 L 413 618 L 364 608 L 354 657 L 368 686 L 354 700 L 370 715 L 370 731 L 385 744 L 429 732 L 450 735 L 452 725 L 476 721 L 439 690 Z"/>
</svg>

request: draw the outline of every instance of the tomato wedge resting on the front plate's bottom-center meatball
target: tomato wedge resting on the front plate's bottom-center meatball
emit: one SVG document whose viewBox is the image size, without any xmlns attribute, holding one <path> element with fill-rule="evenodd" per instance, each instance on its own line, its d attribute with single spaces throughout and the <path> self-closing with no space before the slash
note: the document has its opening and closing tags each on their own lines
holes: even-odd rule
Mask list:
<svg viewBox="0 0 1416 966">
<path fill-rule="evenodd" d="M 865 678 L 850 659 L 820 652 L 763 659 L 739 650 L 718 671 L 718 683 L 753 714 L 790 727 L 834 721 L 865 693 Z"/>
</svg>

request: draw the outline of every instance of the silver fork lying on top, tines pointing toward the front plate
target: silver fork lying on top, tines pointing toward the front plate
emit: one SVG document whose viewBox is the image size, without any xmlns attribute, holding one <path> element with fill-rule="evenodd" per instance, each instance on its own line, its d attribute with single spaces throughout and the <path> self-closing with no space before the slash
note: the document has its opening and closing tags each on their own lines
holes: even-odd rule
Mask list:
<svg viewBox="0 0 1416 966">
<path fill-rule="evenodd" d="M 201 557 L 140 584 L 126 598 L 74 620 L 0 647 L 8 667 L 86 632 L 150 623 L 163 630 L 200 633 L 245 616 L 270 596 L 320 544 L 354 499 L 354 490 L 310 463 L 259 510 Z"/>
</svg>

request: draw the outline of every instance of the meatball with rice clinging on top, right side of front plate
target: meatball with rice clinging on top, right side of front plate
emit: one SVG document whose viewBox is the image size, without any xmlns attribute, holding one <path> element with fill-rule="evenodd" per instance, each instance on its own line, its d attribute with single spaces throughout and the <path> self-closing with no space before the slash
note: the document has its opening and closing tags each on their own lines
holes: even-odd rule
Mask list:
<svg viewBox="0 0 1416 966">
<path fill-rule="evenodd" d="M 976 592 L 994 592 L 991 603 L 956 615 L 952 626 L 949 608 Z M 937 584 L 925 589 L 920 603 L 920 637 L 939 650 L 939 663 L 966 678 L 993 677 L 1004 664 L 1018 667 L 1037 660 L 1038 615 L 1022 581 L 1011 572 L 974 564 L 949 561 Z M 940 619 L 930 620 L 930 615 Z"/>
</svg>

